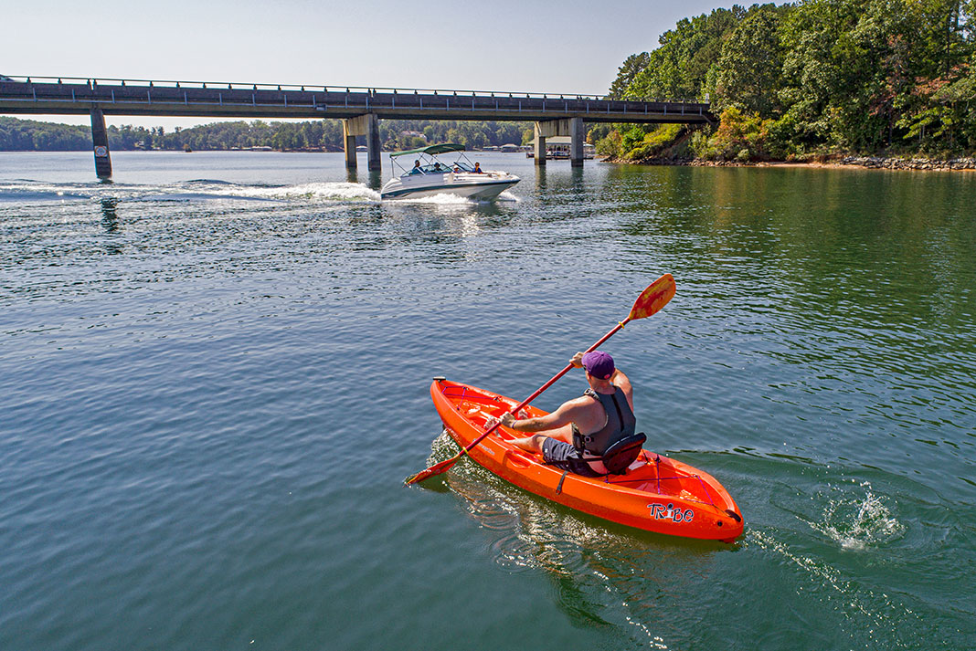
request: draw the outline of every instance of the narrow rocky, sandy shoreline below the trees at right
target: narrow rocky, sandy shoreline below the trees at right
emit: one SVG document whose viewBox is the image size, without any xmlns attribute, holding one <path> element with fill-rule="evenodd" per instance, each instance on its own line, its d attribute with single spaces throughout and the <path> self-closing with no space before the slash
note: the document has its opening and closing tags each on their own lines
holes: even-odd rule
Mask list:
<svg viewBox="0 0 976 651">
<path fill-rule="evenodd" d="M 974 172 L 976 157 L 954 159 L 888 158 L 883 156 L 844 156 L 826 161 L 707 161 L 700 158 L 652 158 L 642 161 L 625 161 L 607 158 L 603 163 L 621 165 L 660 165 L 691 168 L 805 168 L 840 170 L 861 168 L 867 170 L 905 170 L 913 172 Z"/>
</svg>

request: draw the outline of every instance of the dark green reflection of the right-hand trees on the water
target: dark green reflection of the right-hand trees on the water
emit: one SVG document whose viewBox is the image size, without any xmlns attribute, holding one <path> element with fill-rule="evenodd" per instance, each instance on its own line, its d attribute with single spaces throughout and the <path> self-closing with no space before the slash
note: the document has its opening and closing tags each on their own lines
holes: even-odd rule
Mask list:
<svg viewBox="0 0 976 651">
<path fill-rule="evenodd" d="M 630 195 L 622 232 L 649 253 L 775 292 L 791 312 L 897 325 L 976 307 L 971 176 L 616 166 L 608 178 Z"/>
</svg>

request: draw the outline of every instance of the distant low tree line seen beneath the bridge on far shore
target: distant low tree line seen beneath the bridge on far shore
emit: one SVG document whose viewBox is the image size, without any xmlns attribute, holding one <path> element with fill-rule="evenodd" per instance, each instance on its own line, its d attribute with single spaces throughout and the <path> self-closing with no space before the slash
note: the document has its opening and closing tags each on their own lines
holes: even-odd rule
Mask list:
<svg viewBox="0 0 976 651">
<path fill-rule="evenodd" d="M 229 150 L 271 147 L 282 151 L 343 150 L 339 120 L 309 122 L 217 122 L 167 132 L 162 127 L 108 126 L 108 147 L 137 149 Z M 531 125 L 517 122 L 383 120 L 380 141 L 387 151 L 459 142 L 468 149 L 521 144 L 532 138 Z M 364 144 L 365 138 L 359 138 Z M 92 148 L 91 129 L 34 120 L 0 117 L 0 150 L 85 151 Z"/>
</svg>

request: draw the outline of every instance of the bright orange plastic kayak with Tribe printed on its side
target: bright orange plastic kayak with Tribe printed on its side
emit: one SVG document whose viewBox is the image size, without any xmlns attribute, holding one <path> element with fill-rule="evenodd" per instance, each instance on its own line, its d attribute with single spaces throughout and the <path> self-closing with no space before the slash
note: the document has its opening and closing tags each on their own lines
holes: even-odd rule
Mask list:
<svg viewBox="0 0 976 651">
<path fill-rule="evenodd" d="M 489 416 L 501 417 L 517 402 L 483 389 L 440 378 L 430 397 L 448 434 L 465 446 L 485 432 Z M 529 417 L 546 414 L 525 407 Z M 468 455 L 511 483 L 591 516 L 672 536 L 732 542 L 742 535 L 742 514 L 717 480 L 688 464 L 643 450 L 624 475 L 587 478 L 543 463 L 542 455 L 511 444 L 522 438 L 506 427 L 475 445 Z"/>
</svg>

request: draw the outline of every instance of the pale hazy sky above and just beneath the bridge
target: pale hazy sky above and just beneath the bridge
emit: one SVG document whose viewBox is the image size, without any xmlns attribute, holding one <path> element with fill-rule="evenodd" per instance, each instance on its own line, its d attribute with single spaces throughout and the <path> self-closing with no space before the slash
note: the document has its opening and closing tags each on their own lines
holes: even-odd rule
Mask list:
<svg viewBox="0 0 976 651">
<path fill-rule="evenodd" d="M 0 74 L 606 93 L 630 55 L 718 0 L 21 0 Z M 71 124 L 87 117 L 17 116 Z M 200 118 L 106 117 L 190 126 Z"/>
</svg>

